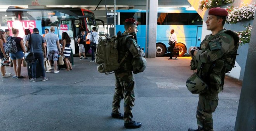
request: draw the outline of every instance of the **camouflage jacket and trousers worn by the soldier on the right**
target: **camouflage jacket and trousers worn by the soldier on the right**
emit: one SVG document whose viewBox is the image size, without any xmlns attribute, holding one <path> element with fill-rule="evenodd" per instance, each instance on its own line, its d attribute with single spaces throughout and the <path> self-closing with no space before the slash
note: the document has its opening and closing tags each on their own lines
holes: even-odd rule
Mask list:
<svg viewBox="0 0 256 131">
<path fill-rule="evenodd" d="M 238 46 L 234 37 L 226 32 L 222 33 L 223 31 L 225 29 L 215 35 L 206 36 L 201 42 L 200 50 L 194 56 L 197 60 L 199 76 L 209 87 L 206 92 L 199 94 L 196 118 L 200 131 L 213 131 L 212 113 L 218 106 L 218 93 L 222 91 L 223 86 L 221 86 L 221 76 L 225 74 L 216 71 L 218 60 L 225 59 L 227 54 L 236 53 Z M 219 70 L 222 67 L 223 63 Z"/>
</svg>

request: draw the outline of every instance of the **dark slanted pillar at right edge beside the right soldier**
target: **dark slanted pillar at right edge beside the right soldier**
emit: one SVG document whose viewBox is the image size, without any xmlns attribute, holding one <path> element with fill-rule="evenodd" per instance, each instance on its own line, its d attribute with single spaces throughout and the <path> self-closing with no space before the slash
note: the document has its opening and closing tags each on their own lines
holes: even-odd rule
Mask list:
<svg viewBox="0 0 256 131">
<path fill-rule="evenodd" d="M 253 20 L 253 29 L 244 72 L 235 131 L 256 131 L 256 20 Z"/>
</svg>

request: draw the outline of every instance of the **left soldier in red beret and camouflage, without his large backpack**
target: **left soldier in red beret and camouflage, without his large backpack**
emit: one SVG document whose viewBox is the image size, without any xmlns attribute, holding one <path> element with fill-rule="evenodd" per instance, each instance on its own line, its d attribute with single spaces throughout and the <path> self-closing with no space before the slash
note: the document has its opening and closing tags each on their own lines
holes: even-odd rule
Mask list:
<svg viewBox="0 0 256 131">
<path fill-rule="evenodd" d="M 139 128 L 140 122 L 133 121 L 132 108 L 134 106 L 135 94 L 134 94 L 134 79 L 133 79 L 133 67 L 131 65 L 132 58 L 141 58 L 145 55 L 136 42 L 137 21 L 130 18 L 125 20 L 125 33 L 118 39 L 118 61 L 120 62 L 124 57 L 125 60 L 119 66 L 119 69 L 115 71 L 115 93 L 112 102 L 113 118 L 124 119 L 125 128 Z M 133 37 L 127 37 L 127 35 L 133 35 Z M 120 102 L 124 99 L 124 112 L 120 113 Z"/>
</svg>

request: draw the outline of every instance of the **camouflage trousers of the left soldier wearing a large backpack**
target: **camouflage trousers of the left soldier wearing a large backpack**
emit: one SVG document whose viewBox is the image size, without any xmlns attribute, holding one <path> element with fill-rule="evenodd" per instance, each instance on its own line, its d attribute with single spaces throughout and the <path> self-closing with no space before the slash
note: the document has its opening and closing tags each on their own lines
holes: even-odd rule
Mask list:
<svg viewBox="0 0 256 131">
<path fill-rule="evenodd" d="M 134 106 L 134 80 L 131 72 L 115 73 L 116 88 L 112 102 L 112 113 L 120 113 L 120 102 L 124 99 L 125 123 L 132 122 L 132 107 Z"/>
</svg>

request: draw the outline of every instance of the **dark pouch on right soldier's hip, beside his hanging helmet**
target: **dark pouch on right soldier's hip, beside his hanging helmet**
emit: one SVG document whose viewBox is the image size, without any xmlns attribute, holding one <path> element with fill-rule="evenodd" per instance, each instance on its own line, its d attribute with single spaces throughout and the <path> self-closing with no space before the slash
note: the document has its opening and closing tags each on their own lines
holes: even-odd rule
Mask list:
<svg viewBox="0 0 256 131">
<path fill-rule="evenodd" d="M 210 89 L 213 93 L 221 92 L 221 79 L 219 75 L 210 74 Z"/>
</svg>

